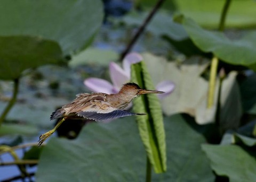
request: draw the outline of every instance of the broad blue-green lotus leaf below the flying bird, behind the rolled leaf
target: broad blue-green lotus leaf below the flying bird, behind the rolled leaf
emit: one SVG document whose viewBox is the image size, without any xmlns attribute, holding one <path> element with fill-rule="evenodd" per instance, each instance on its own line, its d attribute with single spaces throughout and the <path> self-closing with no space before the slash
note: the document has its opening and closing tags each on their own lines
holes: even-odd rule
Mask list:
<svg viewBox="0 0 256 182">
<path fill-rule="evenodd" d="M 214 181 L 200 146 L 205 138 L 193 129 L 195 125 L 194 119 L 184 115 L 165 119 L 168 170 L 153 174 L 152 181 Z M 41 153 L 36 179 L 145 181 L 145 155 L 134 117 L 91 123 L 76 140 L 50 139 Z"/>
</svg>

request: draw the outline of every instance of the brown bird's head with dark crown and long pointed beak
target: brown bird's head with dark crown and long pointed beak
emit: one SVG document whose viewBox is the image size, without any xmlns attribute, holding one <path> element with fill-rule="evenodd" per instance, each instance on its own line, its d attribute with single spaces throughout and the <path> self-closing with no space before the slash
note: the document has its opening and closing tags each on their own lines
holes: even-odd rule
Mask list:
<svg viewBox="0 0 256 182">
<path fill-rule="evenodd" d="M 127 96 L 133 96 L 133 97 L 137 97 L 137 96 L 140 96 L 141 94 L 146 94 L 146 93 L 165 93 L 157 90 L 141 89 L 139 85 L 137 85 L 136 83 L 125 83 L 121 88 L 120 92 L 126 94 Z"/>
</svg>

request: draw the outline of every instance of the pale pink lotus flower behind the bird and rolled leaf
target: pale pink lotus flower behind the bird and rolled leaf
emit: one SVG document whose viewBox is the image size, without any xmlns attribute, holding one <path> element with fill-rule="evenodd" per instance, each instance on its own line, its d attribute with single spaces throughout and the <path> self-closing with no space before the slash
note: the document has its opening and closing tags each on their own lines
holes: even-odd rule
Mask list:
<svg viewBox="0 0 256 182">
<path fill-rule="evenodd" d="M 103 93 L 118 93 L 124 83 L 131 80 L 131 64 L 141 62 L 142 56 L 138 53 L 130 53 L 123 60 L 123 68 L 114 62 L 109 64 L 110 78 L 113 84 L 110 82 L 90 77 L 84 81 L 84 84 L 92 92 Z M 162 81 L 156 85 L 156 90 L 164 91 L 163 94 L 158 94 L 159 98 L 168 96 L 174 90 L 174 83 L 168 80 Z"/>
</svg>

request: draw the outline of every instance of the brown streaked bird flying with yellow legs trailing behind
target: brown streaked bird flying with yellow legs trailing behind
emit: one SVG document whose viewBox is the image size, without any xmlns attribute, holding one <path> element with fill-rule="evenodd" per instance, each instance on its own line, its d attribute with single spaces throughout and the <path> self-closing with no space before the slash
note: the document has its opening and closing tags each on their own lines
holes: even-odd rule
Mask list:
<svg viewBox="0 0 256 182">
<path fill-rule="evenodd" d="M 136 83 L 125 83 L 116 94 L 79 93 L 76 99 L 52 112 L 51 120 L 62 118 L 55 127 L 39 137 L 40 146 L 66 119 L 91 119 L 95 121 L 120 118 L 132 115 L 146 115 L 124 110 L 131 101 L 147 93 L 165 93 L 157 90 L 141 89 Z"/>
</svg>

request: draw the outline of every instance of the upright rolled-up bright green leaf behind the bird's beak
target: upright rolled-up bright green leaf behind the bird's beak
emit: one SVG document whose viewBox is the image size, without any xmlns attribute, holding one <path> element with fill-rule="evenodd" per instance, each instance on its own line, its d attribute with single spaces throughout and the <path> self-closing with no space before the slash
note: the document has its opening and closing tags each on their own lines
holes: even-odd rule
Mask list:
<svg viewBox="0 0 256 182">
<path fill-rule="evenodd" d="M 138 83 L 141 88 L 155 90 L 144 62 L 132 65 L 131 81 Z M 166 171 L 165 132 L 159 100 L 155 94 L 147 94 L 134 100 L 133 104 L 134 112 L 147 114 L 136 117 L 136 120 L 150 163 L 156 173 L 164 172 Z"/>
</svg>

